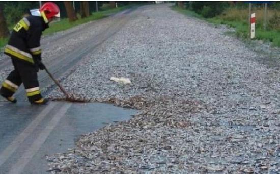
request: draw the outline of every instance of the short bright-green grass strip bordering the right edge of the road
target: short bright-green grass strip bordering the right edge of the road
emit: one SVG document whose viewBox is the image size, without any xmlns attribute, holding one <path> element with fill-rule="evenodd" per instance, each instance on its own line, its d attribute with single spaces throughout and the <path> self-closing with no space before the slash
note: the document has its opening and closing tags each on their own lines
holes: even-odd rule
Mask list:
<svg viewBox="0 0 280 174">
<path fill-rule="evenodd" d="M 214 18 L 203 18 L 201 15 L 186 9 L 181 9 L 178 7 L 172 7 L 173 10 L 178 11 L 179 13 L 185 14 L 191 17 L 197 17 L 204 19 L 213 24 L 226 24 L 229 27 L 235 28 L 235 34 L 237 37 L 247 39 L 248 38 L 248 23 L 244 20 L 234 20 L 234 19 L 223 19 L 221 16 L 216 16 Z M 272 42 L 272 45 L 280 47 L 280 31 L 276 30 L 264 30 L 262 25 L 256 27 L 256 37 L 257 40 L 264 40 Z"/>
</svg>

